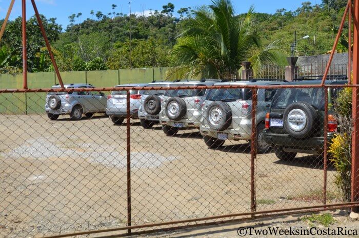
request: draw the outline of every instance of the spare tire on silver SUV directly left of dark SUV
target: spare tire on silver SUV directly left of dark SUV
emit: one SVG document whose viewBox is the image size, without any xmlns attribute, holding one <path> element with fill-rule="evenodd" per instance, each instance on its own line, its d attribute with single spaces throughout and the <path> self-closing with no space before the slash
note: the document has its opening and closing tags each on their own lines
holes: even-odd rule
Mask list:
<svg viewBox="0 0 359 238">
<path fill-rule="evenodd" d="M 211 129 L 226 130 L 232 123 L 232 110 L 224 102 L 213 102 L 206 111 L 206 120 Z"/>
</svg>

